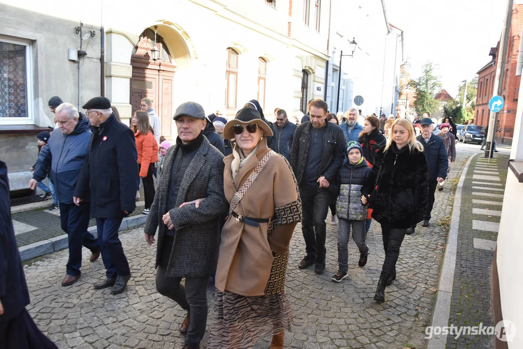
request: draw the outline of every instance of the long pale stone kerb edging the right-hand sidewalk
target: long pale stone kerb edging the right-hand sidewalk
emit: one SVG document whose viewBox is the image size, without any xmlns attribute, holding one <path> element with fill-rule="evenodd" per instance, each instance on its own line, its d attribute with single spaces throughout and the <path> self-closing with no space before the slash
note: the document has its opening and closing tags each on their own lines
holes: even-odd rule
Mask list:
<svg viewBox="0 0 523 349">
<path fill-rule="evenodd" d="M 450 317 L 450 302 L 452 299 L 452 287 L 454 285 L 454 270 L 456 269 L 456 253 L 458 250 L 458 232 L 459 220 L 461 213 L 461 192 L 463 190 L 463 183 L 467 177 L 469 165 L 475 156 L 481 153 L 472 154 L 467 160 L 467 164 L 463 167 L 461 176 L 456 187 L 456 195 L 454 196 L 454 205 L 452 207 L 452 218 L 450 221 L 449 235 L 447 238 L 447 247 L 445 249 L 445 256 L 441 267 L 441 276 L 439 278 L 438 291 L 436 295 L 436 304 L 432 321 L 430 323 L 433 327 L 444 327 L 449 325 Z M 445 349 L 447 347 L 447 335 L 434 335 L 428 340 L 427 349 Z"/>
</svg>

